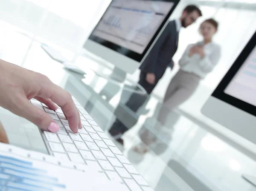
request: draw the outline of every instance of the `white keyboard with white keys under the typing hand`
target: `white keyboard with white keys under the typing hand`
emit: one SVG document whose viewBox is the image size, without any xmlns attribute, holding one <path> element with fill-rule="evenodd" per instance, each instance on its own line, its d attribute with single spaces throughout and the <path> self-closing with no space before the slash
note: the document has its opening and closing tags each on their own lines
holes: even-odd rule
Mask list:
<svg viewBox="0 0 256 191">
<path fill-rule="evenodd" d="M 84 166 L 96 169 L 103 177 L 124 184 L 125 188 L 127 187 L 124 191 L 153 191 L 79 102 L 74 97 L 73 100 L 80 112 L 83 125 L 77 134 L 70 130 L 60 108 L 53 111 L 47 105 L 31 100 L 33 105 L 47 112 L 60 127 L 57 133 L 42 131 L 49 153 L 63 163 L 76 162 L 78 169 L 83 170 Z"/>
</svg>

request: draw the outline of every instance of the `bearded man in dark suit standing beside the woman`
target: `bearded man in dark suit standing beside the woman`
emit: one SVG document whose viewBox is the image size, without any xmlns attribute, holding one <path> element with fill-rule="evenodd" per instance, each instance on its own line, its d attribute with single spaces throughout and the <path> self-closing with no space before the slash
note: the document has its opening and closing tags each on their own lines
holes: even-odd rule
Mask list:
<svg viewBox="0 0 256 191">
<path fill-rule="evenodd" d="M 157 42 L 154 44 L 153 48 L 151 48 L 148 56 L 140 66 L 141 72 L 138 83 L 143 86 L 148 94 L 151 94 L 166 71 L 166 68 L 168 66 L 171 66 L 172 68 L 174 65 L 172 57 L 177 51 L 180 28 L 186 28 L 194 23 L 200 16 L 202 16 L 200 9 L 195 5 L 189 5 L 183 10 L 179 19 L 172 20 L 167 24 L 160 37 L 157 39 Z M 134 93 L 125 105 L 136 112 L 146 100 L 147 96 Z M 137 121 L 135 121 L 135 123 L 136 122 Z M 135 123 L 129 126 L 132 127 Z M 121 136 L 129 128 L 120 120 L 116 120 L 110 128 L 109 133 L 119 141 L 119 143 L 123 144 Z"/>
</svg>

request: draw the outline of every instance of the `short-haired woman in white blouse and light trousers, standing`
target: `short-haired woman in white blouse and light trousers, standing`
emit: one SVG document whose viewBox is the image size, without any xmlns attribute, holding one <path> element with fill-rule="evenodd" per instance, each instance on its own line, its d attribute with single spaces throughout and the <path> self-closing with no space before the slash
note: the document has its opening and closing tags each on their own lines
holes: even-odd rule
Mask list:
<svg viewBox="0 0 256 191">
<path fill-rule="evenodd" d="M 186 51 L 179 61 L 180 70 L 172 78 L 167 88 L 163 106 L 157 118 L 161 125 L 168 126 L 166 125 L 166 119 L 169 112 L 186 101 L 195 92 L 199 82 L 204 79 L 218 63 L 221 48 L 218 44 L 212 42 L 212 37 L 217 30 L 218 23 L 214 19 L 205 20 L 199 28 L 200 34 L 203 36 L 204 40 L 190 44 L 186 48 Z M 154 132 L 161 131 L 159 128 L 161 127 L 157 125 Z M 140 137 L 146 145 L 152 143 L 157 144 L 157 138 L 154 133 L 148 132 L 148 130 L 140 133 Z M 135 151 L 145 153 L 147 148 L 142 145 L 143 144 L 135 147 Z M 163 146 L 163 144 L 160 145 Z M 165 150 L 159 147 L 154 150 Z M 156 145 L 154 145 L 154 148 L 156 148 Z"/>
</svg>

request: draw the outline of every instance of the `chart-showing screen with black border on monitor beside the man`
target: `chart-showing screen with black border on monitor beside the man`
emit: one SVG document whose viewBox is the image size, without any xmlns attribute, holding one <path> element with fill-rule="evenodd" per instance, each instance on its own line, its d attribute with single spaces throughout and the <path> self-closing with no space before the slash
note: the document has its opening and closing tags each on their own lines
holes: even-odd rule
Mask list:
<svg viewBox="0 0 256 191">
<path fill-rule="evenodd" d="M 140 62 L 177 2 L 112 0 L 89 39 Z"/>
</svg>

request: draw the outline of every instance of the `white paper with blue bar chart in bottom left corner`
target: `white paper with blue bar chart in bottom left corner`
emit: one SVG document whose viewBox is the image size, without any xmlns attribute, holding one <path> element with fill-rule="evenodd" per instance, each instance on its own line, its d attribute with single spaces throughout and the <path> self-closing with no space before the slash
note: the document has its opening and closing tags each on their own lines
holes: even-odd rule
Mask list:
<svg viewBox="0 0 256 191">
<path fill-rule="evenodd" d="M 72 162 L 0 143 L 0 191 L 120 191 L 122 185 Z M 75 169 L 79 167 L 79 170 Z"/>
</svg>

